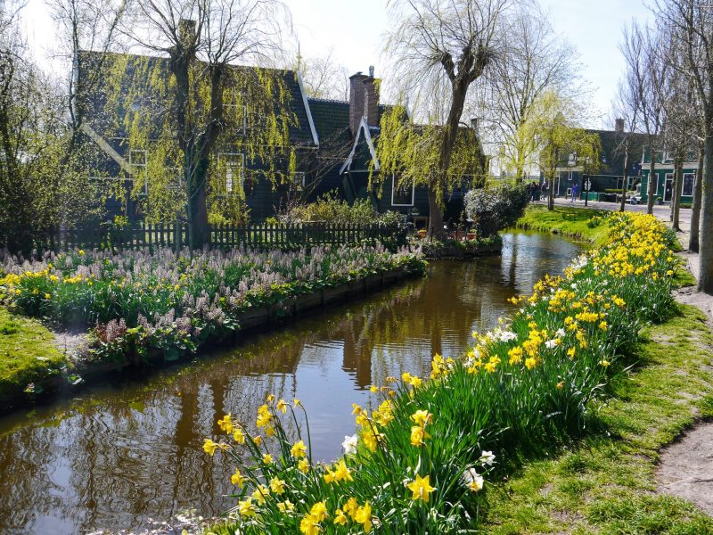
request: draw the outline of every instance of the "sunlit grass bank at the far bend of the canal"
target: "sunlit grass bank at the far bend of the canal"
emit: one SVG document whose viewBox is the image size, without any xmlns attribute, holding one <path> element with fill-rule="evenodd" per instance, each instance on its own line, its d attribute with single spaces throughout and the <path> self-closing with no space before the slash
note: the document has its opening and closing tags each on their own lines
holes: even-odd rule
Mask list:
<svg viewBox="0 0 713 535">
<path fill-rule="evenodd" d="M 530 204 L 517 226 L 600 244 L 607 234 L 602 216 L 608 214 L 611 212 L 569 206 L 555 206 L 554 210 L 547 210 L 545 205 Z"/>
</svg>

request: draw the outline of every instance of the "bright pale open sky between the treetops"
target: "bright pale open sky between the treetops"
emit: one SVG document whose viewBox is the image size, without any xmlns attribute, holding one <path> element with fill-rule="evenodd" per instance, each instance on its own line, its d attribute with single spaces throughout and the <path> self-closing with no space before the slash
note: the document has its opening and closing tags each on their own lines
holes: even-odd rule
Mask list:
<svg viewBox="0 0 713 535">
<path fill-rule="evenodd" d="M 381 48 L 389 27 L 386 0 L 283 0 L 291 10 L 294 31 L 302 56 L 325 56 L 350 73 L 366 72 L 370 65 L 383 76 Z M 540 0 L 549 12 L 555 31 L 575 45 L 582 75 L 593 92 L 598 118 L 593 127 L 606 124 L 617 83 L 624 72 L 619 53 L 622 30 L 632 20 L 645 21 L 649 12 L 644 0 Z M 38 53 L 54 44 L 53 22 L 44 0 L 29 0 L 24 19 L 29 41 Z"/>
</svg>

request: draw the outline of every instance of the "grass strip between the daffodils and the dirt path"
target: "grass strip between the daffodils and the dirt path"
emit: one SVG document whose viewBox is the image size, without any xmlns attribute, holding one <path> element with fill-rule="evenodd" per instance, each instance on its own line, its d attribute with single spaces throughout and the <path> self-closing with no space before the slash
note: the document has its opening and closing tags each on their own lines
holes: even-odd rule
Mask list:
<svg viewBox="0 0 713 535">
<path fill-rule="evenodd" d="M 713 519 L 657 494 L 659 450 L 713 416 L 713 334 L 681 305 L 647 327 L 629 374 L 613 383 L 601 429 L 555 458 L 526 463 L 491 490 L 488 533 L 711 533 Z"/>
</svg>

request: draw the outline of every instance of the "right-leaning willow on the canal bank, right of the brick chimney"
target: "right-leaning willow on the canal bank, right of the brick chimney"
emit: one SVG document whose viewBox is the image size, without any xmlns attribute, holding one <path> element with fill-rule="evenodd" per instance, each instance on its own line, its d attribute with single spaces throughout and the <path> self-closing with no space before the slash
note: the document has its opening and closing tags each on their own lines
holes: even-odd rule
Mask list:
<svg viewBox="0 0 713 535">
<path fill-rule="evenodd" d="M 421 144 L 430 154 L 420 177 L 417 169 L 406 169 L 406 176 L 428 188 L 430 236 L 443 234 L 444 193 L 453 180 L 460 180 L 451 165 L 455 146 L 463 139 L 459 126 L 468 90 L 503 52 L 504 22 L 514 4 L 515 0 L 389 0 L 394 29 L 386 50 L 394 62 L 392 78 L 402 95 L 412 97 L 408 105 L 414 120 L 424 125 L 397 132 L 411 140 L 412 150 Z M 385 120 L 396 118 L 392 114 Z M 380 157 L 404 143 L 384 135 L 389 124 L 383 121 Z M 394 164 L 391 170 L 396 169 Z"/>
</svg>

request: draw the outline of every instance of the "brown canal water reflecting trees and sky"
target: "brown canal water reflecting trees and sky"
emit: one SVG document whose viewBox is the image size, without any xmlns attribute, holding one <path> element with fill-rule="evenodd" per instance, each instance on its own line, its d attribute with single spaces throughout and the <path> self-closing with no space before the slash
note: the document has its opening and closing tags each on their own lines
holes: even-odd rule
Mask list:
<svg viewBox="0 0 713 535">
<path fill-rule="evenodd" d="M 254 423 L 270 392 L 307 407 L 316 458 L 338 457 L 355 432 L 351 403 L 366 404 L 371 384 L 461 353 L 472 330 L 512 312 L 508 298 L 578 252 L 554 236 L 507 234 L 501 257 L 435 261 L 425 279 L 231 350 L 0 419 L 0 533 L 140 532 L 189 507 L 224 512 L 234 466 L 203 453 L 203 438 L 225 412 Z"/>
</svg>

